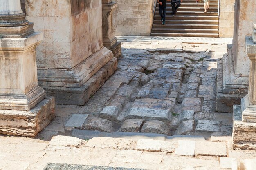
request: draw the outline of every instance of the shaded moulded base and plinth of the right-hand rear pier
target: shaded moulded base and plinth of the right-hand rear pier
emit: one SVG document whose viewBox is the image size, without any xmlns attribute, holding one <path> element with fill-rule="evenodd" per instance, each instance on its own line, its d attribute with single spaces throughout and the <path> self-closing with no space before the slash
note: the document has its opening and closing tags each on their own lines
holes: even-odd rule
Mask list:
<svg viewBox="0 0 256 170">
<path fill-rule="evenodd" d="M 232 113 L 233 105 L 240 104 L 248 93 L 249 76 L 236 75 L 233 69 L 232 54 L 229 51 L 218 62 L 216 111 Z"/>
</svg>

